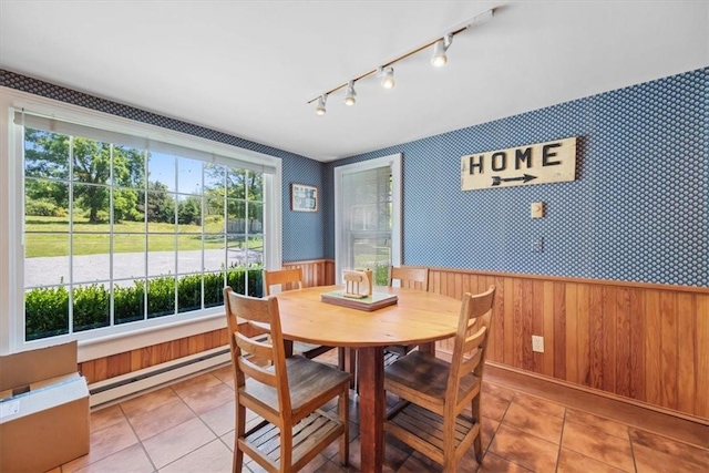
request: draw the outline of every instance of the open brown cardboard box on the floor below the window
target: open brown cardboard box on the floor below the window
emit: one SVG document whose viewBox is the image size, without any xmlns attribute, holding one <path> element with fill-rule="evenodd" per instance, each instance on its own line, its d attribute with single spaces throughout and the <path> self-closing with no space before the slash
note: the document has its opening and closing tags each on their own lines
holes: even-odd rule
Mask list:
<svg viewBox="0 0 709 473">
<path fill-rule="evenodd" d="M 0 471 L 43 472 L 89 453 L 76 342 L 0 357 Z"/>
</svg>

